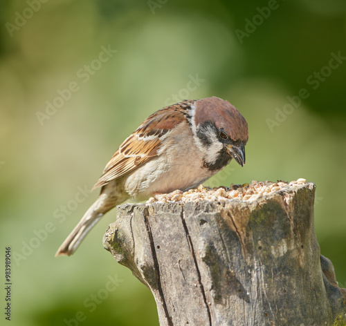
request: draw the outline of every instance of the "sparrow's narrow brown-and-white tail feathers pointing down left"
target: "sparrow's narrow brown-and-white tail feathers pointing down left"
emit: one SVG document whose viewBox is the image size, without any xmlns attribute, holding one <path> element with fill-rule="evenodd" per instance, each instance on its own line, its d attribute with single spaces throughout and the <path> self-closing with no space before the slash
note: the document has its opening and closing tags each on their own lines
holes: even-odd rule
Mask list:
<svg viewBox="0 0 346 326">
<path fill-rule="evenodd" d="M 93 226 L 102 218 L 104 213 L 100 212 L 100 201 L 96 200 L 91 207 L 86 211 L 80 222 L 75 226 L 69 236 L 66 238 L 55 257 L 60 255 L 71 256 L 74 253 L 82 240 L 86 237 Z"/>
</svg>

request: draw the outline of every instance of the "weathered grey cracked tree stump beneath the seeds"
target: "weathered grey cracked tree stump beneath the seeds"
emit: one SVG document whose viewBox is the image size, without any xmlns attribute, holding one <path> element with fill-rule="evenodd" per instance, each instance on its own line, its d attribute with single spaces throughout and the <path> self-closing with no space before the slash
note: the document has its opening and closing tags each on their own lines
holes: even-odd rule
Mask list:
<svg viewBox="0 0 346 326">
<path fill-rule="evenodd" d="M 161 326 L 346 325 L 346 290 L 316 239 L 315 189 L 126 204 L 104 248 L 152 291 Z"/>
</svg>

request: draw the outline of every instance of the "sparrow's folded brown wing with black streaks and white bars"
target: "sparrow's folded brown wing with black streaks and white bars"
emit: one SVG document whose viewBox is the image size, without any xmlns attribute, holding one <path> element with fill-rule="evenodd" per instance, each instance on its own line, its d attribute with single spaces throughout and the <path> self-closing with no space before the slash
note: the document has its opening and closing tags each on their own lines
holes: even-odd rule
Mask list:
<svg viewBox="0 0 346 326">
<path fill-rule="evenodd" d="M 111 157 L 93 189 L 120 178 L 158 155 L 158 148 L 165 134 L 184 121 L 185 108 L 188 106 L 186 104 L 161 108 L 145 119 L 145 122 L 127 137 Z"/>
</svg>

